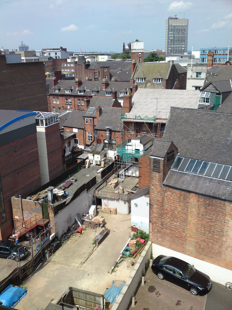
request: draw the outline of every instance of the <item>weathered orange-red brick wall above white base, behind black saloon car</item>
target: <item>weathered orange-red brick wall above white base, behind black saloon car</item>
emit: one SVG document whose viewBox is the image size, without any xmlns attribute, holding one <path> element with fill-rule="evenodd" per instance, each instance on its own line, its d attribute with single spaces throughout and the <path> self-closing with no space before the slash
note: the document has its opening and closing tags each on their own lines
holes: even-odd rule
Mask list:
<svg viewBox="0 0 232 310">
<path fill-rule="evenodd" d="M 231 269 L 231 204 L 162 186 L 168 170 L 166 158 L 161 173 L 150 159 L 150 241 Z"/>
</svg>

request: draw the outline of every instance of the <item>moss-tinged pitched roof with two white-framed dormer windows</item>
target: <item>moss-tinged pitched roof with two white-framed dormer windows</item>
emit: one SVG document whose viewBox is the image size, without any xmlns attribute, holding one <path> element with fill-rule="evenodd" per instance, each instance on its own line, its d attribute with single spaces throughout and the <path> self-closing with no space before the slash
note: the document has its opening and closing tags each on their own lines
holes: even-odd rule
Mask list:
<svg viewBox="0 0 232 310">
<path fill-rule="evenodd" d="M 174 64 L 179 74 L 186 73 L 180 64 Z M 139 83 L 139 88 L 161 88 L 161 83 L 153 83 L 153 78 L 162 78 L 167 80 L 170 74 L 172 63 L 170 62 L 144 62 L 139 63 L 135 69 L 135 73 L 131 78 L 146 78 L 144 83 Z"/>
</svg>

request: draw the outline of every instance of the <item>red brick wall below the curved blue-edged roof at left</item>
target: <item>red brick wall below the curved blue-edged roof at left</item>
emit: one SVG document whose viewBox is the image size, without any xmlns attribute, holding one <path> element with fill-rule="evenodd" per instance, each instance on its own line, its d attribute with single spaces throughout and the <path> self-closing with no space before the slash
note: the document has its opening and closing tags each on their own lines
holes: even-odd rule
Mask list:
<svg viewBox="0 0 232 310">
<path fill-rule="evenodd" d="M 12 233 L 11 197 L 22 197 L 41 186 L 37 135 L 2 145 L 0 149 L 0 172 L 7 222 L 1 225 L 2 239 Z M 7 164 L 6 164 L 7 163 Z"/>
</svg>

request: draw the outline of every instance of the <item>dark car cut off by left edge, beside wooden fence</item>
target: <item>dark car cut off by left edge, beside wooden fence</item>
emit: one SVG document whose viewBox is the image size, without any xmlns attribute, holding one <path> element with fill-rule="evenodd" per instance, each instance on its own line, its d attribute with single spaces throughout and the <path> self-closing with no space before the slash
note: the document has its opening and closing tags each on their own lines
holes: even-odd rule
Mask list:
<svg viewBox="0 0 232 310">
<path fill-rule="evenodd" d="M 0 257 L 15 259 L 23 259 L 28 255 L 28 249 L 25 246 L 19 246 L 12 241 L 0 240 Z"/>
</svg>

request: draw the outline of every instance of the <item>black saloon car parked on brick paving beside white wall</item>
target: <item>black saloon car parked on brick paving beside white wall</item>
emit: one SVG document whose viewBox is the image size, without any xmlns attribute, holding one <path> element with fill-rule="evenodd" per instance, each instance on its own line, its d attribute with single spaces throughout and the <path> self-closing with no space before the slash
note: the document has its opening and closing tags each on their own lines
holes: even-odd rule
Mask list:
<svg viewBox="0 0 232 310">
<path fill-rule="evenodd" d="M 175 257 L 159 255 L 153 260 L 152 271 L 159 279 L 168 280 L 190 290 L 193 295 L 204 294 L 212 286 L 210 277 Z"/>
</svg>

